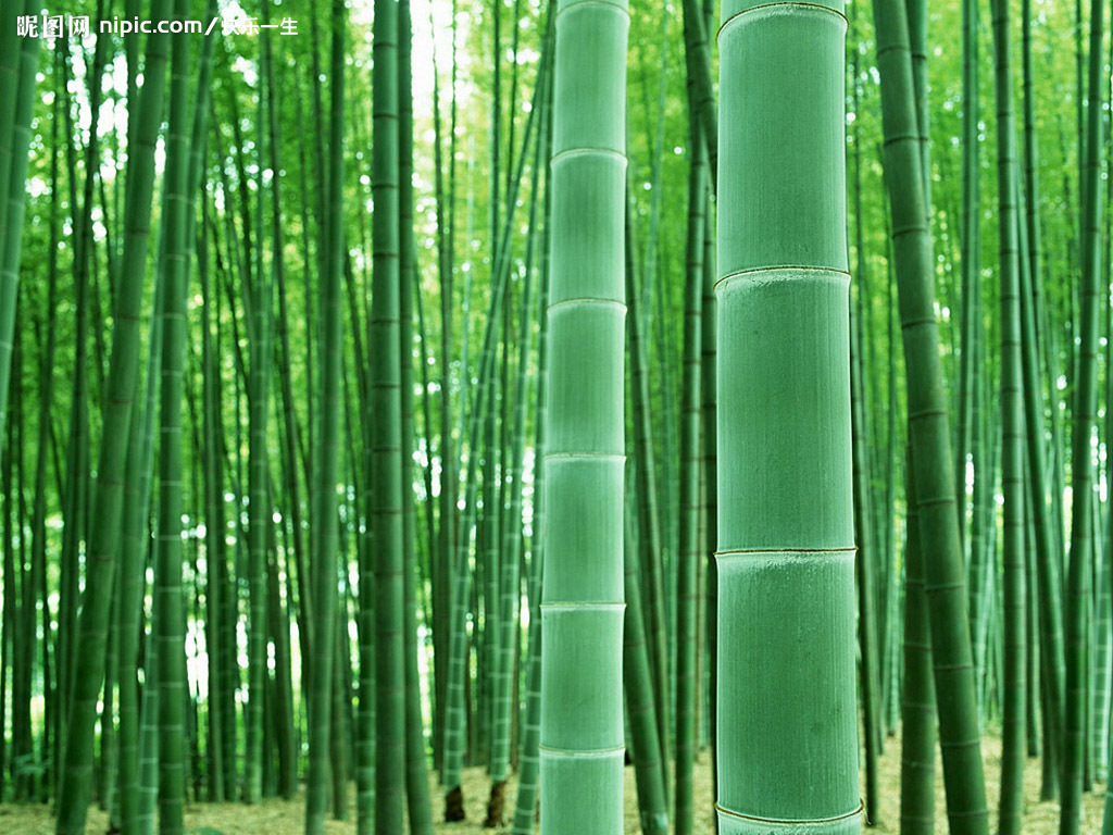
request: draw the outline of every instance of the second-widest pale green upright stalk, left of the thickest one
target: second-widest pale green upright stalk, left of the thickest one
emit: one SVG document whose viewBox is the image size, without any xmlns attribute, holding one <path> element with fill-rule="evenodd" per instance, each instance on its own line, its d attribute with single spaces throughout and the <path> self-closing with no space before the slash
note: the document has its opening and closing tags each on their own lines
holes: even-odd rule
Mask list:
<svg viewBox="0 0 1113 835">
<path fill-rule="evenodd" d="M 541 832 L 622 826 L 626 3 L 560 2 L 541 642 Z"/>
</svg>

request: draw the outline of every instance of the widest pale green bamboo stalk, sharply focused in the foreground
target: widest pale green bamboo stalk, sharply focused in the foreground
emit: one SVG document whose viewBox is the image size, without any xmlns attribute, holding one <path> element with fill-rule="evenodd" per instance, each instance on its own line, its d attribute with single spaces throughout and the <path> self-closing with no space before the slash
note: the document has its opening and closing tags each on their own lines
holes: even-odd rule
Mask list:
<svg viewBox="0 0 1113 835">
<path fill-rule="evenodd" d="M 846 29 L 841 3 L 732 0 L 722 8 L 716 288 L 722 835 L 848 835 L 861 826 Z"/>
</svg>

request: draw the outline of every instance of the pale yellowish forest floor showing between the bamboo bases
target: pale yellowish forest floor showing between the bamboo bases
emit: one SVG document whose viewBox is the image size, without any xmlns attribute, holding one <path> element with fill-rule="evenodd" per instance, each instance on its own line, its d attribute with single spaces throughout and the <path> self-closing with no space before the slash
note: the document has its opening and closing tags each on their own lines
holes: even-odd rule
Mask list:
<svg viewBox="0 0 1113 835">
<path fill-rule="evenodd" d="M 982 753 L 985 758 L 986 793 L 991 809 L 996 809 L 1001 778 L 1001 739 L 994 734 L 987 734 L 982 740 Z M 1024 770 L 1025 783 L 1025 835 L 1052 835 L 1058 829 L 1058 803 L 1040 802 L 1041 763 L 1030 759 Z M 711 769 L 708 752 L 703 750 L 696 763 L 695 770 L 697 809 L 696 835 L 710 835 L 713 829 L 711 803 Z M 877 825 L 871 831 L 879 835 L 896 835 L 900 829 L 900 740 L 899 737 L 886 741 L 885 755 L 880 758 L 880 809 Z M 484 835 L 491 832 L 482 827 L 486 812 L 486 798 L 490 782 L 482 768 L 464 770 L 464 797 L 467 822 L 459 824 L 436 825 L 440 835 Z M 1083 795 L 1082 825 L 1080 832 L 1089 835 L 1101 828 L 1102 807 L 1104 803 L 1104 784 L 1095 783 L 1094 790 Z M 516 796 L 516 780 L 511 776 L 506 797 L 509 809 L 513 812 L 513 798 Z M 444 815 L 444 799 L 437 786 L 433 786 L 434 821 Z M 936 813 L 935 831 L 946 833 L 946 805 L 943 794 L 942 767 L 936 764 Z M 702 798 L 702 799 L 699 799 Z M 295 800 L 265 800 L 258 806 L 245 806 L 236 803 L 210 804 L 190 803 L 186 806 L 186 832 L 190 835 L 302 835 L 304 832 L 304 797 Z M 329 821 L 326 825 L 328 835 L 351 835 L 354 826 L 354 795 L 349 798 L 348 821 Z M 509 821 L 506 827 L 509 832 Z M 991 832 L 997 828 L 996 815 L 991 813 Z M 47 806 L 6 804 L 0 806 L 0 833 L 2 835 L 52 835 L 53 818 Z M 91 809 L 89 813 L 90 835 L 101 835 L 108 832 L 108 821 L 105 813 Z M 633 835 L 639 832 L 638 800 L 634 790 L 633 768 L 627 767 L 626 780 L 626 832 Z"/>
</svg>

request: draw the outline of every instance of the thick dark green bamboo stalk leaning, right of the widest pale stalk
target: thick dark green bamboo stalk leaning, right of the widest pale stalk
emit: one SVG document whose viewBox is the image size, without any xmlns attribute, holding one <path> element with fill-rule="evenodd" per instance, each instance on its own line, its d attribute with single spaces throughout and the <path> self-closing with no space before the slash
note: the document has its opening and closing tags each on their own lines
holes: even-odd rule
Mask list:
<svg viewBox="0 0 1113 835">
<path fill-rule="evenodd" d="M 963 559 L 955 507 L 954 456 L 933 310 L 934 258 L 917 137 L 908 21 L 902 2 L 875 0 L 885 168 L 893 209 L 897 286 L 908 379 L 909 438 L 917 463 L 919 527 L 927 561 L 932 660 L 939 703 L 939 740 L 951 831 L 987 832 L 988 811 Z"/>
</svg>

